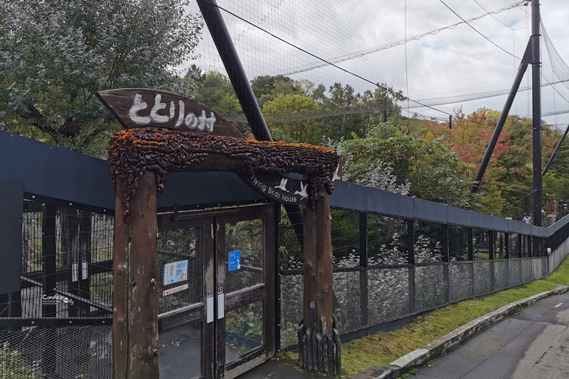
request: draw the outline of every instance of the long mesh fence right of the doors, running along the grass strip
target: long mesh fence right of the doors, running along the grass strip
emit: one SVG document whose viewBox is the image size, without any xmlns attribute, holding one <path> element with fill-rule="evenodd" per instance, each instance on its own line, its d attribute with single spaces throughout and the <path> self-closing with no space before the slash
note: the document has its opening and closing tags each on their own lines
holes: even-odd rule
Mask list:
<svg viewBox="0 0 569 379">
<path fill-rule="evenodd" d="M 408 263 L 410 225 L 414 265 Z M 287 348 L 297 344 L 303 276 L 302 248 L 292 225 L 282 223 L 283 230 L 289 234 L 286 247 L 281 241 L 280 347 Z M 543 256 L 531 257 L 535 237 L 346 210 L 334 210 L 332 236 L 333 312 L 341 334 L 541 279 L 569 255 L 563 239 L 551 245 L 548 256 L 541 239 L 537 250 Z"/>
</svg>

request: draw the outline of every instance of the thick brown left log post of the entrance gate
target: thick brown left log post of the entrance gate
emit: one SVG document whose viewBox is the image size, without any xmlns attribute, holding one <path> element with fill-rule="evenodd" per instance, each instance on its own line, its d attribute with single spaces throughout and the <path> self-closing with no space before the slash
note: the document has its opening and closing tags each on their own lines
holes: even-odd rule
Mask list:
<svg viewBox="0 0 569 379">
<path fill-rule="evenodd" d="M 112 346 L 114 378 L 159 378 L 156 176 L 147 171 L 130 199 L 116 178 Z"/>
</svg>

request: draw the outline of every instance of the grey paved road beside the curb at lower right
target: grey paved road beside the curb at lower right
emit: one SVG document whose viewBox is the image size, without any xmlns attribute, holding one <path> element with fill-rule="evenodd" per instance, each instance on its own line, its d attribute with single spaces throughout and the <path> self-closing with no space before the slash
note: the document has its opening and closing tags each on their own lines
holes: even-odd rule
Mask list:
<svg viewBox="0 0 569 379">
<path fill-rule="evenodd" d="M 569 378 L 569 294 L 536 301 L 410 378 Z"/>
</svg>

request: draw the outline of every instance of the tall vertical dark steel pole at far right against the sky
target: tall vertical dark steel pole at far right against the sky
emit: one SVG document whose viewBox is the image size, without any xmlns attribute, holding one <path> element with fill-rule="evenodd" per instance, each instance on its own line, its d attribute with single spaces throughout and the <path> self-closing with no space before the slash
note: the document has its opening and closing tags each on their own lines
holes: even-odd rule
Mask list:
<svg viewBox="0 0 569 379">
<path fill-rule="evenodd" d="M 533 110 L 533 225 L 541 226 L 541 54 L 539 0 L 531 0 L 531 88 Z"/>
</svg>

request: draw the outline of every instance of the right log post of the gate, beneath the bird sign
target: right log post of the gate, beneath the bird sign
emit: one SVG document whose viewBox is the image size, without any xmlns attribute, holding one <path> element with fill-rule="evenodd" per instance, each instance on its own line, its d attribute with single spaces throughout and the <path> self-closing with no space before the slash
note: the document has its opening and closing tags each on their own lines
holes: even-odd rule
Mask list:
<svg viewBox="0 0 569 379">
<path fill-rule="evenodd" d="M 316 301 L 317 320 L 321 316 L 328 322 L 332 319 L 330 233 L 330 197 L 321 188 L 314 210 L 307 206 L 304 211 L 304 326 L 307 328 L 312 325 L 310 301 Z"/>
</svg>

